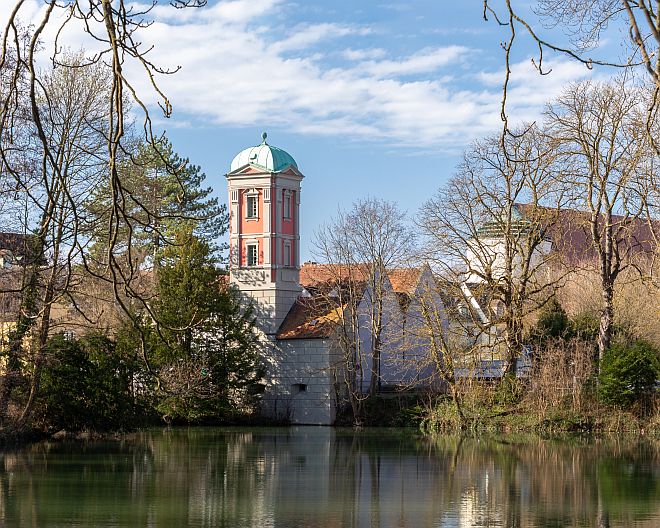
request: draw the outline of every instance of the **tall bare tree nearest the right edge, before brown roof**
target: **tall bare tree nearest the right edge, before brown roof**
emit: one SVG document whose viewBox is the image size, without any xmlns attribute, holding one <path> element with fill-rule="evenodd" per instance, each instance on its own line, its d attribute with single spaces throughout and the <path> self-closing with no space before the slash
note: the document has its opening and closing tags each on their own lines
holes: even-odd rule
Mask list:
<svg viewBox="0 0 660 528">
<path fill-rule="evenodd" d="M 547 110 L 557 185 L 582 211 L 571 223 L 587 233 L 588 247 L 572 256 L 572 265 L 595 261 L 599 272 L 601 359 L 612 340 L 617 281 L 631 266 L 648 275 L 654 250 L 645 214 L 658 160 L 644 133 L 644 107 L 643 91 L 583 82 L 567 88 Z"/>
</svg>

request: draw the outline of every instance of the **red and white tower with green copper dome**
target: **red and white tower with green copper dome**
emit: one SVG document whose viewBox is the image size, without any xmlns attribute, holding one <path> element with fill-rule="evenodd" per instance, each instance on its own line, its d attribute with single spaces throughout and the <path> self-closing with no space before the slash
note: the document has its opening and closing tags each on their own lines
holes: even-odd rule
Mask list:
<svg viewBox="0 0 660 528">
<path fill-rule="evenodd" d="M 300 183 L 291 155 L 263 142 L 241 151 L 226 174 L 230 280 L 254 301 L 267 335 L 301 292 Z"/>
</svg>

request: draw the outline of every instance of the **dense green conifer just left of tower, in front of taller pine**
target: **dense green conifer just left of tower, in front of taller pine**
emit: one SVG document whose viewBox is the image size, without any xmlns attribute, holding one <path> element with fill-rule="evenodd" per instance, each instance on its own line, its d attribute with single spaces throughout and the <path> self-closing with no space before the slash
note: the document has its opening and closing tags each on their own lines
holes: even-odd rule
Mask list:
<svg viewBox="0 0 660 528">
<path fill-rule="evenodd" d="M 262 377 L 252 314 L 189 226 L 163 252 L 154 311 L 161 323 L 151 345 L 164 382 L 163 416 L 217 422 L 250 413 Z"/>
</svg>

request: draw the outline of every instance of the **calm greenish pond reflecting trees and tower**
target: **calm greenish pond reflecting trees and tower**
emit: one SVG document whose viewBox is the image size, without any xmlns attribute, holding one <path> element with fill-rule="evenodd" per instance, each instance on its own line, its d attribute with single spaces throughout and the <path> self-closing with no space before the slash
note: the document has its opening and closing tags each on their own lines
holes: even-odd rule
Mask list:
<svg viewBox="0 0 660 528">
<path fill-rule="evenodd" d="M 660 526 L 643 439 L 190 428 L 0 457 L 1 526 Z"/>
</svg>

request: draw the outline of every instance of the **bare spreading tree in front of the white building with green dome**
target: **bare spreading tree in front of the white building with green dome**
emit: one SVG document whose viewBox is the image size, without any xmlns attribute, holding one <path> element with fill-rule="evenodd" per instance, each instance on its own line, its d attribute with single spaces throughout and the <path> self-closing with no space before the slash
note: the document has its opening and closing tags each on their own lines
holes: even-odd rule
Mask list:
<svg viewBox="0 0 660 528">
<path fill-rule="evenodd" d="M 553 150 L 534 127 L 526 134 L 475 144 L 458 174 L 420 210 L 426 255 L 484 350 L 503 348 L 504 374 L 515 374 L 526 316 L 560 283 L 548 230 L 563 196 L 552 183 Z"/>
</svg>

